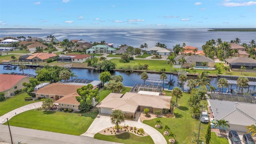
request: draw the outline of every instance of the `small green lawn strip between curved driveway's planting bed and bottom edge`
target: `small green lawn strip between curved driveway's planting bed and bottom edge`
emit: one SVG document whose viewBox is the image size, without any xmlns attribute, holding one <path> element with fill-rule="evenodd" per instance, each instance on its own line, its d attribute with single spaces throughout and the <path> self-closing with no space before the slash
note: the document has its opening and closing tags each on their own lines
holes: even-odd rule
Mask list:
<svg viewBox="0 0 256 144">
<path fill-rule="evenodd" d="M 135 134 L 132 134 L 130 132 L 111 136 L 98 133 L 94 135 L 94 138 L 98 140 L 118 142 L 122 144 L 138 144 L 138 142 L 140 142 L 140 144 L 154 144 L 154 141 L 150 136 L 136 136 Z"/>
</svg>

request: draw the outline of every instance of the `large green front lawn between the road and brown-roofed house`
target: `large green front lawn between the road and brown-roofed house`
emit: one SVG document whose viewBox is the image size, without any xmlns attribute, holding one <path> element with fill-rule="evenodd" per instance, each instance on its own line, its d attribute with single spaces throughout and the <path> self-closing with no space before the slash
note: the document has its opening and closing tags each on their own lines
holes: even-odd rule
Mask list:
<svg viewBox="0 0 256 144">
<path fill-rule="evenodd" d="M 28 110 L 9 120 L 11 126 L 79 136 L 86 132 L 98 112 L 77 113 Z M 7 123 L 5 123 L 7 125 Z"/>
</svg>

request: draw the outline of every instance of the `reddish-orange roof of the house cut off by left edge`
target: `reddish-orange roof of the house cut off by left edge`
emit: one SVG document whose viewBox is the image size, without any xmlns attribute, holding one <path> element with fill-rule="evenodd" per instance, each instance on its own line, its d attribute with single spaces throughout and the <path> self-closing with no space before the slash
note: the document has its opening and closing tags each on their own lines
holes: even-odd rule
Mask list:
<svg viewBox="0 0 256 144">
<path fill-rule="evenodd" d="M 22 80 L 22 78 L 26 78 L 26 76 L 0 74 L 0 92 L 12 88 L 15 84 Z"/>
</svg>

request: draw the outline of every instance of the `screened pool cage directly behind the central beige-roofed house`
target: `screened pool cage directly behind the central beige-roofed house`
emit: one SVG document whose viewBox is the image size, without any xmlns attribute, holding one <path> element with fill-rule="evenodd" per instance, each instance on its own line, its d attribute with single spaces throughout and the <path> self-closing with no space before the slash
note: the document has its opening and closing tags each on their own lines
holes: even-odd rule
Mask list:
<svg viewBox="0 0 256 144">
<path fill-rule="evenodd" d="M 160 95 L 162 95 L 162 86 L 156 85 L 135 84 L 130 92 L 138 93 L 141 90 L 147 92 L 159 92 Z"/>
</svg>

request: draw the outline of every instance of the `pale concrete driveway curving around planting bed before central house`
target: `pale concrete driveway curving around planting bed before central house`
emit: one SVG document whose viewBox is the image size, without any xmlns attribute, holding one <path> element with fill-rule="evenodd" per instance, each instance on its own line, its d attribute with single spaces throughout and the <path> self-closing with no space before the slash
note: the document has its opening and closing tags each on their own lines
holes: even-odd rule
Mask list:
<svg viewBox="0 0 256 144">
<path fill-rule="evenodd" d="M 164 136 L 160 132 L 158 132 L 156 129 L 152 128 L 151 126 L 148 126 L 141 122 L 130 121 L 130 120 L 125 120 L 124 123 L 120 125 L 128 125 L 133 127 L 136 126 L 137 128 L 143 128 L 144 131 L 151 136 L 155 144 L 167 144 Z M 92 122 L 88 130 L 84 134 L 81 134 L 81 136 L 89 136 L 93 138 L 94 135 L 100 132 L 101 130 L 104 130 L 106 128 L 110 128 L 113 126 L 115 125 L 111 124 L 109 114 L 98 114 L 98 116 L 94 119 L 94 121 Z"/>
</svg>

